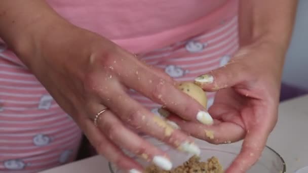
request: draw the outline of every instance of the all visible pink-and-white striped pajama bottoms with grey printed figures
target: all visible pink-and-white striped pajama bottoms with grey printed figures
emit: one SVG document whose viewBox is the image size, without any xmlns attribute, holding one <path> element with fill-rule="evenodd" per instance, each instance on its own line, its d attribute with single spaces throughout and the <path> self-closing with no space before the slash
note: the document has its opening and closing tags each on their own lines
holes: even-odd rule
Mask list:
<svg viewBox="0 0 308 173">
<path fill-rule="evenodd" d="M 146 63 L 178 81 L 225 65 L 238 50 L 237 17 L 210 31 L 152 52 Z M 160 105 L 130 91 L 131 97 L 157 113 Z M 214 93 L 209 93 L 209 106 Z M 37 172 L 74 160 L 81 131 L 40 82 L 0 43 L 0 173 Z"/>
</svg>

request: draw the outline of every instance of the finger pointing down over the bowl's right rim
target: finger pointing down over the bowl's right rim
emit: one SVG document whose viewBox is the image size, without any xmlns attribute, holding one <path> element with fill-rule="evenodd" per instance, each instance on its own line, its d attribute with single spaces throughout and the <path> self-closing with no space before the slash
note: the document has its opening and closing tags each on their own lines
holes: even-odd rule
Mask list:
<svg viewBox="0 0 308 173">
<path fill-rule="evenodd" d="M 262 128 L 251 129 L 247 132 L 240 154 L 226 170 L 231 172 L 246 172 L 261 156 L 265 147 L 268 132 L 260 132 Z"/>
</svg>

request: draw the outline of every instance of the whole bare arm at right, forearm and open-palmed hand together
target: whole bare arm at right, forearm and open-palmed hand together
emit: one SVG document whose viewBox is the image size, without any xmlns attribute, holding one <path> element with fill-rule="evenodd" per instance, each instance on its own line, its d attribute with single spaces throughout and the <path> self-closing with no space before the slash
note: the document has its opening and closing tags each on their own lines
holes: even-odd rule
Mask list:
<svg viewBox="0 0 308 173">
<path fill-rule="evenodd" d="M 226 66 L 208 73 L 214 77 L 212 83 L 197 82 L 205 91 L 217 92 L 209 109 L 214 125 L 170 117 L 192 136 L 214 144 L 244 139 L 227 173 L 248 170 L 275 127 L 296 5 L 296 1 L 289 0 L 240 1 L 240 50 Z M 207 137 L 204 129 L 212 131 L 214 139 Z"/>
</svg>

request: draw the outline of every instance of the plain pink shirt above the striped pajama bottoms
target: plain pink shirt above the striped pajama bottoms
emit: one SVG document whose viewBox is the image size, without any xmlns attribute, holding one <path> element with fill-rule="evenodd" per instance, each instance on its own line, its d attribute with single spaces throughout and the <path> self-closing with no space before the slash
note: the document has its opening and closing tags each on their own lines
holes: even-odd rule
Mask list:
<svg viewBox="0 0 308 173">
<path fill-rule="evenodd" d="M 131 52 L 162 48 L 215 27 L 238 0 L 47 0 L 71 23 Z"/>
</svg>

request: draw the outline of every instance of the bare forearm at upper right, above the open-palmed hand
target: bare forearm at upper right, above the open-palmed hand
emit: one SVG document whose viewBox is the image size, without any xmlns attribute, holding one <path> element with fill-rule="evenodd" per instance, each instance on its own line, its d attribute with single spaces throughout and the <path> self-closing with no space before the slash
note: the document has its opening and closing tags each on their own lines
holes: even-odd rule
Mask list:
<svg viewBox="0 0 308 173">
<path fill-rule="evenodd" d="M 265 39 L 286 50 L 292 34 L 297 0 L 240 0 L 240 44 Z"/>
</svg>

